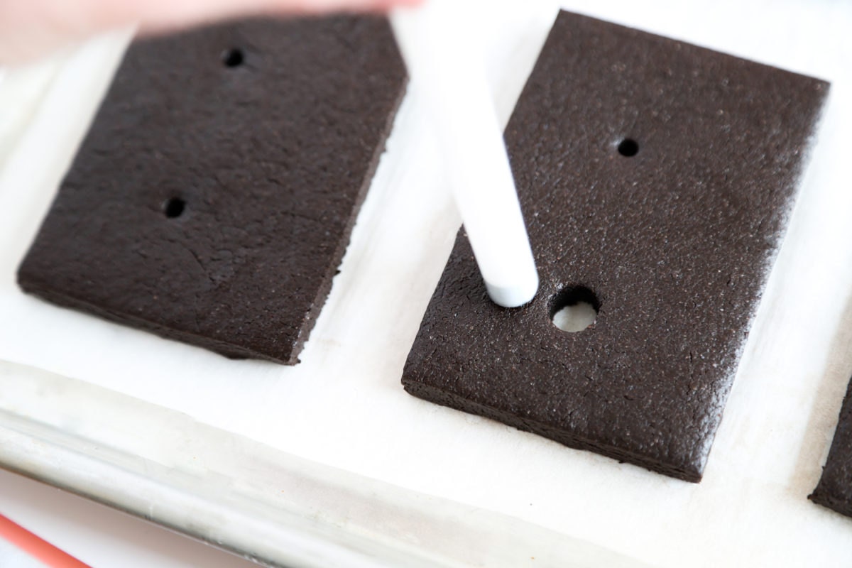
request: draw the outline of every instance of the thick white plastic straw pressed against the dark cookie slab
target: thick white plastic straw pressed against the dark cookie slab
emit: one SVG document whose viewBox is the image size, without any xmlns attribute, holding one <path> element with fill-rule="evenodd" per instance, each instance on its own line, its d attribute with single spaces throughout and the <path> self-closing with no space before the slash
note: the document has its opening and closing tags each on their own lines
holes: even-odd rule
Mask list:
<svg viewBox="0 0 852 568">
<path fill-rule="evenodd" d="M 518 307 L 538 291 L 503 133 L 466 0 L 392 14 L 394 31 L 434 123 L 447 181 L 492 301 Z M 474 38 L 471 38 L 471 35 Z"/>
</svg>

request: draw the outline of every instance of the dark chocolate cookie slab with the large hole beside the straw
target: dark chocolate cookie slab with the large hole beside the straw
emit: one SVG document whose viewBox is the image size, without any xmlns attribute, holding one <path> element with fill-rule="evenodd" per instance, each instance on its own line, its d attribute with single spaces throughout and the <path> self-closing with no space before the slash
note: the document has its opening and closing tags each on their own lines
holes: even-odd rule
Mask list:
<svg viewBox="0 0 852 568">
<path fill-rule="evenodd" d="M 459 232 L 406 390 L 699 481 L 827 90 L 561 12 L 505 132 L 541 288 L 494 305 Z"/>
</svg>

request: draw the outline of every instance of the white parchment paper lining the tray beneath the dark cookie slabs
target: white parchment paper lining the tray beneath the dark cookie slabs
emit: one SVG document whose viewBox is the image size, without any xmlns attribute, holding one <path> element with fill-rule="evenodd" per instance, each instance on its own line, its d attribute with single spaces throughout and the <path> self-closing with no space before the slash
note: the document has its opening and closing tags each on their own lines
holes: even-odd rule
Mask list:
<svg viewBox="0 0 852 568">
<path fill-rule="evenodd" d="M 402 364 L 458 227 L 430 167 L 434 153 L 419 142 L 417 93 L 400 111 L 342 273 L 296 368 L 228 361 L 20 294 L 14 268 L 83 134 L 120 38 L 61 64 L 0 162 L 0 359 L 178 411 L 394 491 L 519 519 L 649 565 L 852 564 L 852 520 L 806 499 L 852 370 L 852 4 L 565 4 L 832 82 L 820 141 L 701 484 L 568 450 L 402 391 Z M 492 32 L 492 86 L 505 119 L 555 11 L 543 2 L 489 6 L 482 27 Z M 11 411 L 10 404 L 0 394 L 0 408 Z M 72 432 L 86 416 L 78 420 Z M 150 444 L 170 444 L 155 435 Z M 564 565 L 558 554 L 529 564 Z"/>
</svg>

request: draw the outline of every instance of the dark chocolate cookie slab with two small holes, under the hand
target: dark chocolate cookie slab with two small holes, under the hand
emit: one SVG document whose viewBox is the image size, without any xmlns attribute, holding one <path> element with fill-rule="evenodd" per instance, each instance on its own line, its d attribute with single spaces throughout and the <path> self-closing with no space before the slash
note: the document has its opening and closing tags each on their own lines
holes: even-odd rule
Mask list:
<svg viewBox="0 0 852 568">
<path fill-rule="evenodd" d="M 404 94 L 388 21 L 135 43 L 19 270 L 64 306 L 295 364 Z"/>
</svg>

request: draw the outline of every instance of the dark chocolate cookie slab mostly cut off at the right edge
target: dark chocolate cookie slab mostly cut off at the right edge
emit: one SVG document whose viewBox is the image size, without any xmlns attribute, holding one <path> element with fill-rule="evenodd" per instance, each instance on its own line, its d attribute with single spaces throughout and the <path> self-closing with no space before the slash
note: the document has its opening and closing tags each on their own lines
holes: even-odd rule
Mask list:
<svg viewBox="0 0 852 568">
<path fill-rule="evenodd" d="M 843 399 L 826 467 L 810 499 L 852 517 L 852 382 Z"/>
</svg>

